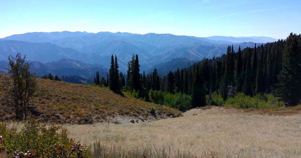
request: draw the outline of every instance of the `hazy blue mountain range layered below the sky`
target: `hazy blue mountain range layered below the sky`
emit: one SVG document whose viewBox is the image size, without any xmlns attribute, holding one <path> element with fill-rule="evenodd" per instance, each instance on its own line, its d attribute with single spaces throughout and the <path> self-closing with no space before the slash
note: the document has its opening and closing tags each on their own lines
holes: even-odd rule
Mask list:
<svg viewBox="0 0 301 158">
<path fill-rule="evenodd" d="M 199 38 L 154 33 L 26 33 L 0 39 L 0 69 L 4 68 L 9 55 L 20 52 L 32 61 L 32 70 L 40 75 L 51 72 L 90 77 L 97 70 L 100 74 L 108 72 L 111 55 L 117 55 L 119 71 L 126 72 L 127 62 L 133 54 L 138 54 L 141 71 L 149 72 L 157 67 L 166 73 L 167 70 L 163 69 L 167 67 L 176 70 L 203 58 L 221 56 L 226 53 L 228 45 L 237 50 L 239 45 L 243 49 L 254 47 L 254 43 L 273 41 L 276 39 L 269 37 Z"/>
</svg>

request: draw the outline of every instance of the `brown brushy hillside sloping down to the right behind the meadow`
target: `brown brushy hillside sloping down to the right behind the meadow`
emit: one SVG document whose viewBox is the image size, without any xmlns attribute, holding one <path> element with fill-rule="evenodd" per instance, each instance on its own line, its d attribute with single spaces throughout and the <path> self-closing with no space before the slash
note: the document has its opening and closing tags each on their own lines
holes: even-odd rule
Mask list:
<svg viewBox="0 0 301 158">
<path fill-rule="evenodd" d="M 0 74 L 0 83 L 7 75 Z M 37 96 L 32 103 L 41 112 L 36 118 L 56 120 L 62 123 L 116 122 L 139 119 L 155 120 L 169 116 L 180 116 L 181 112 L 153 103 L 114 94 L 112 91 L 94 86 L 85 86 L 59 81 L 37 79 Z M 14 119 L 14 112 L 4 99 L 6 85 L 1 86 L 0 119 Z M 156 114 L 150 111 L 155 109 Z M 57 119 L 60 118 L 60 119 Z M 116 123 L 118 123 L 116 122 Z"/>
</svg>

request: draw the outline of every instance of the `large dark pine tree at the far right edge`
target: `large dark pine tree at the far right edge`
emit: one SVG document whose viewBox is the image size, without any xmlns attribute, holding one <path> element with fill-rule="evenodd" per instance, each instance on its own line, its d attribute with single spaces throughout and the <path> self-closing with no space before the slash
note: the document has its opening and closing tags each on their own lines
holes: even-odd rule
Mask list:
<svg viewBox="0 0 301 158">
<path fill-rule="evenodd" d="M 283 50 L 282 70 L 278 75 L 277 95 L 287 106 L 301 99 L 301 35 L 290 33 Z"/>
</svg>

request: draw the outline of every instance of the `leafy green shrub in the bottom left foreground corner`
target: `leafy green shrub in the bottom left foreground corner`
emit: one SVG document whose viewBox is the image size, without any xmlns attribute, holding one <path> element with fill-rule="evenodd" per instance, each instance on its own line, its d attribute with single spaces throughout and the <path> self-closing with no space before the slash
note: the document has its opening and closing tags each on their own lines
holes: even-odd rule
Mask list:
<svg viewBox="0 0 301 158">
<path fill-rule="evenodd" d="M 68 138 L 67 129 L 35 120 L 25 123 L 20 132 L 0 124 L 5 151 L 13 157 L 88 157 L 87 148 Z"/>
</svg>

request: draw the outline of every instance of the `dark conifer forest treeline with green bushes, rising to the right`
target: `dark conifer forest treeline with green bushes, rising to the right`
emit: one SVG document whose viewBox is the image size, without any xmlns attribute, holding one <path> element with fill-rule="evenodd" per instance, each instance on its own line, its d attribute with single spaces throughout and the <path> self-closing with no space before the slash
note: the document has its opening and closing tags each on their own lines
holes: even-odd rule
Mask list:
<svg viewBox="0 0 301 158">
<path fill-rule="evenodd" d="M 112 69 L 118 72 L 116 56 L 115 62 L 112 56 L 110 76 Z M 286 106 L 294 106 L 301 99 L 301 35 L 290 33 L 286 40 L 255 44 L 253 48 L 243 50 L 239 47 L 237 52 L 233 45 L 228 46 L 221 57 L 204 58 L 186 69 L 170 71 L 166 76 L 160 76 L 156 68 L 148 74 L 144 71 L 140 74 L 138 56 L 133 55 L 128 62 L 126 84 L 123 74 L 119 76 L 118 81 L 109 77 L 108 83 L 103 85 L 109 85 L 110 89 L 118 85 L 120 90 L 135 98 L 175 104 L 170 106 L 181 110 L 210 104 L 212 94 L 225 101 L 239 93 L 250 97 L 269 94 L 279 97 Z M 103 77 L 101 81 L 105 81 Z M 98 79 L 96 82 L 100 83 Z M 117 93 L 121 91 L 117 90 Z M 178 102 L 171 103 L 171 100 Z M 184 107 L 178 107 L 181 101 L 185 102 L 181 105 Z"/>
</svg>

